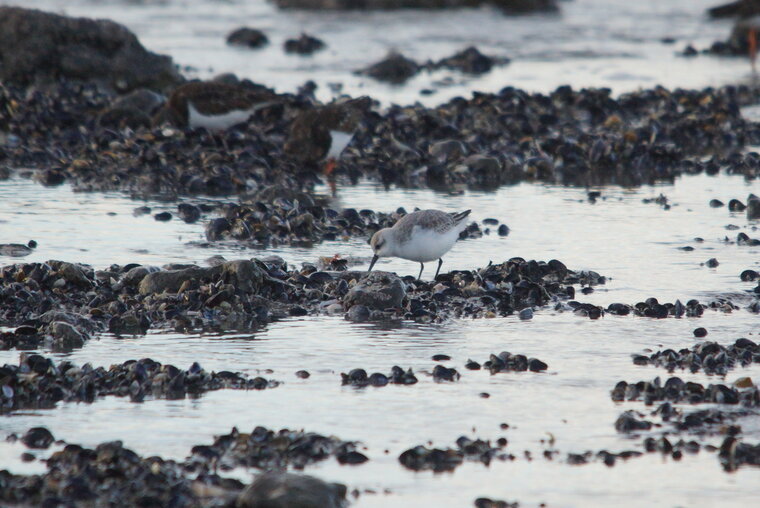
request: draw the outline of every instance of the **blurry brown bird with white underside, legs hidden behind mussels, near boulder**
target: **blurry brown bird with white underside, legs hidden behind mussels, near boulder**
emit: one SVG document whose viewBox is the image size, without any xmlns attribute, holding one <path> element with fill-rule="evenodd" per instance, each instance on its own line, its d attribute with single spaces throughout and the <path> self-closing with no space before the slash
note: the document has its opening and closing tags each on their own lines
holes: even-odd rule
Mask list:
<svg viewBox="0 0 760 508">
<path fill-rule="evenodd" d="M 222 81 L 193 81 L 178 86 L 153 119 L 177 127 L 212 132 L 245 122 L 258 109 L 272 104 L 275 94 L 261 87 L 248 88 Z"/>
</svg>

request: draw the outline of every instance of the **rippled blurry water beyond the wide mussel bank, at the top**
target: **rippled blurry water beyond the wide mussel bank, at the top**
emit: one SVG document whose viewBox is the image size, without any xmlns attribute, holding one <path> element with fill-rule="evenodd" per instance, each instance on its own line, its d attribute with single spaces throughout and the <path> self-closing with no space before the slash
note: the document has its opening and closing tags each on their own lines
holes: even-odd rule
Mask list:
<svg viewBox="0 0 760 508">
<path fill-rule="evenodd" d="M 560 2 L 561 14 L 507 17 L 484 7 L 430 12 L 279 11 L 264 0 L 125 1 L 0 0 L 75 16 L 110 18 L 133 30 L 148 49 L 174 57 L 190 74 L 240 77 L 294 91 L 307 79 L 328 100 L 338 93 L 367 94 L 384 103 L 437 104 L 472 90 L 515 86 L 547 92 L 559 85 L 610 87 L 615 92 L 664 85 L 704 86 L 749 80 L 745 59 L 678 56 L 687 45 L 701 50 L 725 40 L 727 20 L 705 15 L 715 0 L 573 0 Z M 227 34 L 241 25 L 263 30 L 270 44 L 260 50 L 229 47 Z M 288 55 L 283 42 L 308 32 L 327 49 L 312 56 Z M 663 38 L 673 38 L 665 44 Z M 476 45 L 483 53 L 512 63 L 483 76 L 457 72 L 423 73 L 405 86 L 357 76 L 395 49 L 419 62 L 450 56 Z M 423 89 L 434 90 L 430 96 Z"/>
</svg>

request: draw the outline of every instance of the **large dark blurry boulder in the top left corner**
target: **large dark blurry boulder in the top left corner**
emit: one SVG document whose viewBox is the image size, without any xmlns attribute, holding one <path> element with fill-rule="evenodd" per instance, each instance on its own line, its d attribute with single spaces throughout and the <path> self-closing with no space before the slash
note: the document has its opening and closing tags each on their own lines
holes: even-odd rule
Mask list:
<svg viewBox="0 0 760 508">
<path fill-rule="evenodd" d="M 22 86 L 66 78 L 125 92 L 183 81 L 170 57 L 146 51 L 123 25 L 20 7 L 0 7 L 0 62 L 0 81 Z"/>
</svg>

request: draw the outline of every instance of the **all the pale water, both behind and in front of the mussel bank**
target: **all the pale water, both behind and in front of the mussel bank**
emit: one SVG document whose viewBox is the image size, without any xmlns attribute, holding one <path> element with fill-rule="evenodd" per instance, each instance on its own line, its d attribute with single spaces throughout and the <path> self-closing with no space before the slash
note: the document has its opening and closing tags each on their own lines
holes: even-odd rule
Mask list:
<svg viewBox="0 0 760 508">
<path fill-rule="evenodd" d="M 704 8 L 714 3 L 575 0 L 561 3 L 560 16 L 519 18 L 505 18 L 488 8 L 434 13 L 279 12 L 263 1 L 233 0 L 27 0 L 24 5 L 115 19 L 134 30 L 149 49 L 171 54 L 201 77 L 233 71 L 280 91 L 292 91 L 306 79 L 314 79 L 322 99 L 337 93 L 329 83 L 342 83 L 344 92 L 366 93 L 384 103 L 420 100 L 434 104 L 471 90 L 491 91 L 506 85 L 548 91 L 569 83 L 624 92 L 656 84 L 698 88 L 744 80 L 749 69 L 741 59 L 675 56 L 688 43 L 701 49 L 726 37 L 729 22 L 710 22 L 703 15 Z M 224 37 L 241 24 L 264 29 L 272 44 L 261 51 L 227 47 Z M 282 41 L 302 30 L 323 38 L 328 49 L 306 58 L 284 55 Z M 676 43 L 663 44 L 666 36 L 675 37 Z M 440 72 L 419 76 L 403 87 L 352 74 L 390 48 L 422 61 L 450 55 L 469 44 L 513 61 L 482 77 Z M 433 84 L 446 79 L 446 83 Z M 419 95 L 429 87 L 437 92 Z M 199 361 L 208 370 L 264 373 L 284 383 L 262 392 L 225 390 L 195 400 L 136 404 L 111 397 L 90 405 L 61 404 L 53 410 L 0 418 L 0 435 L 44 425 L 68 442 L 95 445 L 121 439 L 139 453 L 181 459 L 193 445 L 211 443 L 214 434 L 229 432 L 233 425 L 244 430 L 265 425 L 334 434 L 362 441 L 370 461 L 352 467 L 329 460 L 306 472 L 346 483 L 351 489 L 379 492 L 362 495 L 354 503 L 358 507 L 471 506 L 479 496 L 519 501 L 521 506 L 540 502 L 578 507 L 756 503 L 758 470 L 724 473 L 715 454 L 705 451 L 685 455 L 680 462 L 652 454 L 618 461 L 613 468 L 601 462 L 570 466 L 543 458 L 548 445 L 541 440 L 550 434 L 562 452 L 559 458 L 568 452 L 638 449 L 641 440 L 617 434 L 614 421 L 624 409 L 646 409 L 638 402 L 616 404 L 609 391 L 621 379 L 651 380 L 666 378 L 667 373 L 633 365 L 631 353 L 690 346 L 697 341 L 692 331 L 698 326 L 707 328 L 707 339 L 721 344 L 742 336 L 760 340 L 758 316 L 744 308 L 747 291 L 755 284 L 738 277 L 747 268 L 760 269 L 760 248 L 724 241 L 725 237 L 735 239 L 739 231 L 758 238 L 760 223 L 748 222 L 743 214 L 730 213 L 726 207 L 708 205 L 713 198 L 724 203 L 731 198 L 746 201 L 748 193 L 760 193 L 760 184 L 740 177 L 700 175 L 653 187 L 588 190 L 601 191 L 602 198 L 592 204 L 587 189 L 527 183 L 496 192 L 449 195 L 386 190 L 363 182 L 341 187 L 335 206 L 386 212 L 399 206 L 407 210 L 415 206 L 450 211 L 471 208 L 473 220 L 492 217 L 509 225 L 511 233 L 506 238 L 492 231 L 458 243 L 445 257 L 444 270 L 474 269 L 513 256 L 556 258 L 572 269 L 595 270 L 609 277 L 594 293 L 579 294 L 577 299 L 583 302 L 606 306 L 651 296 L 682 302 L 728 297 L 742 309 L 728 314 L 708 310 L 701 318 L 607 315 L 591 321 L 547 308 L 536 312 L 531 321 L 511 316 L 440 325 L 354 324 L 315 317 L 285 320 L 248 333 L 103 335 L 81 350 L 52 356 L 93 365 L 142 357 L 181 367 Z M 660 193 L 668 197 L 671 209 L 642 203 Z M 47 188 L 18 177 L 0 181 L 0 243 L 35 239 L 39 244 L 27 257 L 0 257 L 0 266 L 48 259 L 96 268 L 130 262 L 203 263 L 216 254 L 228 259 L 277 254 L 296 265 L 334 254 L 357 258 L 359 267 L 369 261 L 365 238 L 265 251 L 233 244 L 203 247 L 203 222 L 187 225 L 176 218 L 156 222 L 151 214 L 135 217 L 133 209 L 143 205 L 153 213 L 175 210 L 174 204 L 135 201 L 120 193 L 74 193 L 67 185 Z M 729 230 L 729 225 L 739 229 Z M 695 237 L 704 241 L 697 242 Z M 679 250 L 687 245 L 695 250 Z M 713 257 L 720 262 L 717 268 L 701 265 Z M 403 260 L 383 260 L 378 268 L 402 275 L 416 275 L 418 270 L 415 263 Z M 434 269 L 431 263 L 425 276 L 432 276 Z M 463 368 L 468 358 L 482 362 L 502 350 L 536 356 L 549 364 L 549 370 L 491 376 Z M 462 372 L 460 381 L 435 383 L 420 374 L 432 371 L 431 356 L 437 353 L 452 357 L 445 364 Z M 16 351 L 1 351 L 0 364 L 17 362 L 18 356 Z M 420 383 L 360 390 L 340 385 L 340 372 L 355 367 L 387 372 L 394 364 L 414 368 Z M 300 369 L 312 376 L 297 378 L 294 372 Z M 702 383 L 718 381 L 703 374 L 678 375 Z M 760 366 L 739 368 L 722 381 L 730 383 L 745 375 L 757 380 Z M 481 398 L 481 392 L 491 397 Z M 510 428 L 501 430 L 501 422 L 508 422 Z M 748 442 L 760 440 L 757 417 L 739 423 Z M 397 461 L 407 448 L 428 441 L 453 446 L 460 435 L 492 441 L 505 436 L 507 451 L 517 459 L 496 461 L 490 467 L 466 463 L 450 474 L 413 473 Z M 719 444 L 720 437 L 708 437 L 705 442 Z M 20 461 L 24 450 L 20 444 L 0 441 L 0 467 L 14 472 L 43 470 L 41 462 Z M 532 461 L 524 457 L 525 450 L 531 451 Z M 35 453 L 44 457 L 50 450 Z M 234 474 L 249 480 L 254 472 Z M 390 493 L 383 494 L 385 489 Z"/>
</svg>

